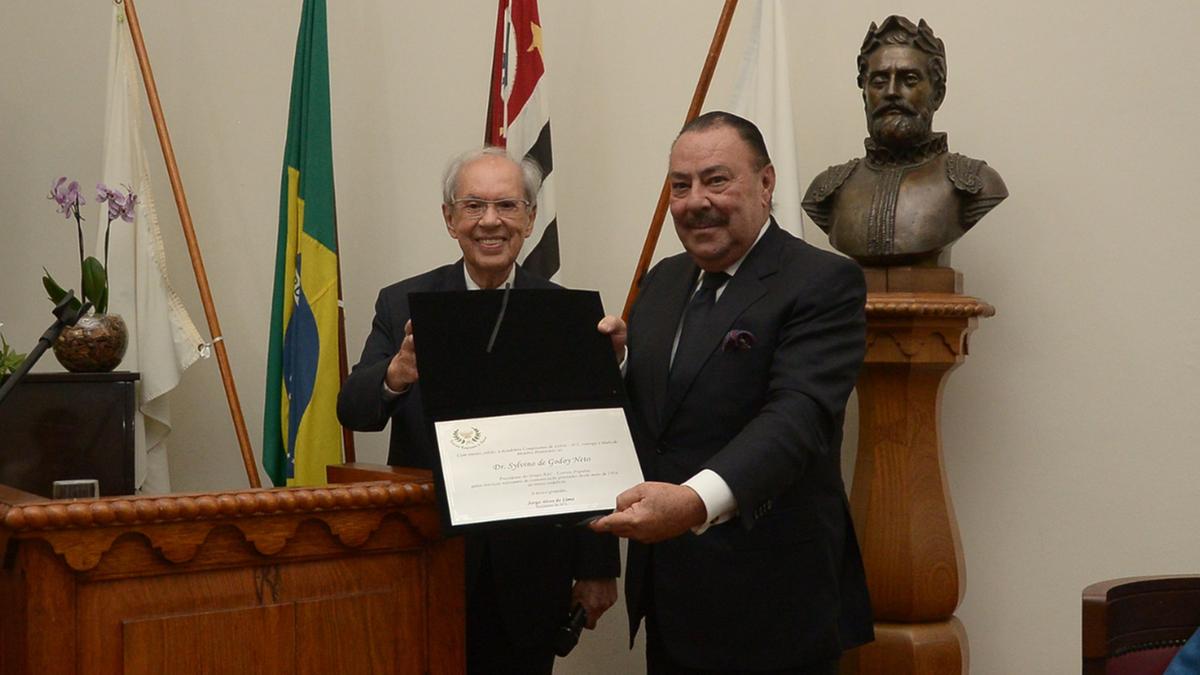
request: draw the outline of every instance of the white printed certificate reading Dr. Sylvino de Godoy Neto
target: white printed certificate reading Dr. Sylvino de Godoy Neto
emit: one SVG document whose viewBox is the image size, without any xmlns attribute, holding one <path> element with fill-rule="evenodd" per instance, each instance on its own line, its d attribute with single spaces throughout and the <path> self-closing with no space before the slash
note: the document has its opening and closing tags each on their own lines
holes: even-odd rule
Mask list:
<svg viewBox="0 0 1200 675">
<path fill-rule="evenodd" d="M 622 408 L 434 423 L 454 526 L 612 510 L 642 482 Z"/>
</svg>

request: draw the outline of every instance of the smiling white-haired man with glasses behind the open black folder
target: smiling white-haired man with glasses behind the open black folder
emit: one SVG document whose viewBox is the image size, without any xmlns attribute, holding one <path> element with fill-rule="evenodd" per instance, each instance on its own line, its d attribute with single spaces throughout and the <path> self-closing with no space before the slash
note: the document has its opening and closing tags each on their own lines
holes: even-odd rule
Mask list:
<svg viewBox="0 0 1200 675">
<path fill-rule="evenodd" d="M 362 356 L 337 398 L 337 417 L 358 431 L 391 422 L 388 464 L 430 468 L 437 453 L 421 407 L 408 294 L 480 288 L 554 288 L 516 264 L 533 232 L 542 173 L 503 149 L 455 159 L 443 181 L 442 216 L 462 259 L 379 292 Z M 575 603 L 588 627 L 617 599 L 617 543 L 586 528 L 532 526 L 466 537 L 467 671 L 548 674 L 553 637 Z"/>
</svg>

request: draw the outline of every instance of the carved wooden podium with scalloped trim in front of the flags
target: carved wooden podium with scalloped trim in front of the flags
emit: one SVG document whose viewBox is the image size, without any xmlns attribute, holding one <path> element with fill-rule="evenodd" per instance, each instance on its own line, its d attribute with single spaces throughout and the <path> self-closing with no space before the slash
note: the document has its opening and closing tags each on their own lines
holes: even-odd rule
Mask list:
<svg viewBox="0 0 1200 675">
<path fill-rule="evenodd" d="M 48 501 L 0 486 L 0 675 L 462 673 L 462 544 L 396 482 Z"/>
</svg>

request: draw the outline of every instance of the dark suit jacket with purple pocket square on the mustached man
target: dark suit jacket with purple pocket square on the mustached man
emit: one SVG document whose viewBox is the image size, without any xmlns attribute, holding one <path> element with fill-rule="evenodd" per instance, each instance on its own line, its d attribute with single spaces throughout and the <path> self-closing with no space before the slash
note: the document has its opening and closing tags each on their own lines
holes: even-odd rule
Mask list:
<svg viewBox="0 0 1200 675">
<path fill-rule="evenodd" d="M 690 386 L 671 405 L 671 347 L 697 274 L 686 253 L 664 259 L 630 313 L 635 442 L 647 480 L 682 483 L 710 468 L 738 515 L 700 536 L 630 543 L 631 634 L 653 603 L 664 646 L 684 665 L 835 658 L 872 637 L 840 467 L 865 352 L 863 273 L 772 222 L 713 309 L 709 354 L 676 364 Z M 752 338 L 738 347 L 732 330 Z"/>
</svg>

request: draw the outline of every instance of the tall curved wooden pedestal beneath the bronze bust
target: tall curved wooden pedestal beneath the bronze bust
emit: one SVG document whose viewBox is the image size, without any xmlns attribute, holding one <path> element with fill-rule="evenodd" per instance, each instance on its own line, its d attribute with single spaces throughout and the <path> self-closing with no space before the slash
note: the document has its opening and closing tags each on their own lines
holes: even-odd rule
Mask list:
<svg viewBox="0 0 1200 675">
<path fill-rule="evenodd" d="M 967 673 L 954 611 L 966 589 L 962 544 L 942 464 L 942 384 L 967 335 L 995 309 L 962 295 L 948 268 L 868 270 L 868 351 L 858 378 L 851 512 L 875 611 L 876 641 L 842 673 Z"/>
</svg>

